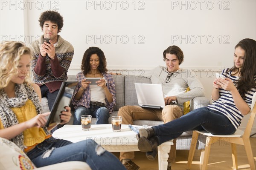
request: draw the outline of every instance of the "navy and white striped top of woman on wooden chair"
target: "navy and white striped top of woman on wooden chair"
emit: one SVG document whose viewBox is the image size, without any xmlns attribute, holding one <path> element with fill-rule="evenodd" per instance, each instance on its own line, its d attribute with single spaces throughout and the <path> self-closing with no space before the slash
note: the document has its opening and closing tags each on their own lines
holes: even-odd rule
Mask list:
<svg viewBox="0 0 256 170">
<path fill-rule="evenodd" d="M 227 71 L 228 70 L 228 71 Z M 222 75 L 227 78 L 230 78 L 233 82 L 238 80 L 238 76 L 231 75 L 232 71 L 229 69 L 224 69 L 222 71 Z M 256 81 L 256 77 L 254 77 L 254 81 Z M 256 88 L 250 89 L 245 93 L 245 102 L 251 107 L 253 94 L 256 92 Z M 239 127 L 241 124 L 241 120 L 244 117 L 241 112 L 237 109 L 236 104 L 233 100 L 233 97 L 230 91 L 219 89 L 220 98 L 217 101 L 214 101 L 212 104 L 208 105 L 209 109 L 221 112 L 231 121 L 234 127 Z"/>
</svg>

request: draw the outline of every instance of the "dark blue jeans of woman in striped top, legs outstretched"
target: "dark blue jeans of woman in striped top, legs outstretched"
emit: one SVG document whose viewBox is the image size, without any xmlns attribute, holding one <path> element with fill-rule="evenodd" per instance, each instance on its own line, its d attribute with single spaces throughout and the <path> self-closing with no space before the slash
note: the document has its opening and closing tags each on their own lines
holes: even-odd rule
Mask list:
<svg viewBox="0 0 256 170">
<path fill-rule="evenodd" d="M 180 118 L 152 128 L 158 145 L 175 139 L 188 130 L 206 130 L 215 135 L 230 135 L 236 132 L 236 128 L 225 115 L 207 107 L 195 109 Z"/>
</svg>

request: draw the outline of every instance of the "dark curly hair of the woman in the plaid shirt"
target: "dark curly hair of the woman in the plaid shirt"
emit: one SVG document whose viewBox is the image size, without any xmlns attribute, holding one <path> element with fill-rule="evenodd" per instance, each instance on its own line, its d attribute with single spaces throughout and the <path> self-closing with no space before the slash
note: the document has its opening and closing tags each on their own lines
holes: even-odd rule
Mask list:
<svg viewBox="0 0 256 170">
<path fill-rule="evenodd" d="M 81 71 L 86 75 L 90 72 L 90 57 L 96 54 L 99 56 L 99 67 L 98 70 L 100 73 L 107 73 L 107 61 L 104 55 L 104 52 L 98 47 L 89 47 L 85 52 L 82 59 Z"/>
</svg>

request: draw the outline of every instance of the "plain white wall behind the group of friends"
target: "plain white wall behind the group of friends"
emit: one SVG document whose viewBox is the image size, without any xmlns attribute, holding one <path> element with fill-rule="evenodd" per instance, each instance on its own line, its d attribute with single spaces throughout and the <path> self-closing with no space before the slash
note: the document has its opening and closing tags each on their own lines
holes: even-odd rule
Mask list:
<svg viewBox="0 0 256 170">
<path fill-rule="evenodd" d="M 208 98 L 209 69 L 233 66 L 236 43 L 256 39 L 255 0 L 1 0 L 0 5 L 1 42 L 31 43 L 42 34 L 41 12 L 60 12 L 60 35 L 75 48 L 68 74 L 79 72 L 90 46 L 105 52 L 109 69 L 140 74 L 165 64 L 163 50 L 177 45 L 184 52 L 181 67 L 198 70 Z"/>
</svg>

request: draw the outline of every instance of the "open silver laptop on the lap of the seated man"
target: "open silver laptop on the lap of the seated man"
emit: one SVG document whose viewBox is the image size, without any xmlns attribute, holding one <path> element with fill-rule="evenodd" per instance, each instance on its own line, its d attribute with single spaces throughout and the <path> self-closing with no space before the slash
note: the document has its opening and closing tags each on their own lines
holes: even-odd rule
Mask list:
<svg viewBox="0 0 256 170">
<path fill-rule="evenodd" d="M 165 107 L 161 84 L 135 83 L 138 104 L 140 107 L 163 109 Z"/>
</svg>

